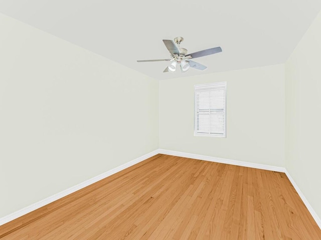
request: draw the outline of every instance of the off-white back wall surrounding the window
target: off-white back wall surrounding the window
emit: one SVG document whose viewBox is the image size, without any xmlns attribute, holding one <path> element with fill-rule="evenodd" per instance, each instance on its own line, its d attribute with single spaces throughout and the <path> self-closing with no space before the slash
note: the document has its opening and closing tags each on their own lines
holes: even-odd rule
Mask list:
<svg viewBox="0 0 321 240">
<path fill-rule="evenodd" d="M 194 136 L 194 85 L 218 81 L 227 137 Z M 159 92 L 160 148 L 284 166 L 284 64 L 161 80 Z"/>
</svg>

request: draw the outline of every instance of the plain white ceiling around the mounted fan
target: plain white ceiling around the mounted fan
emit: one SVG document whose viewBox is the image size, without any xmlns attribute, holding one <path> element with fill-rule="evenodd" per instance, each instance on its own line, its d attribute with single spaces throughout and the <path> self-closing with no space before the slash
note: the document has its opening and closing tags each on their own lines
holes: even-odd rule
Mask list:
<svg viewBox="0 0 321 240">
<path fill-rule="evenodd" d="M 156 79 L 283 63 L 321 9 L 321 0 L 0 0 L 0 12 Z M 183 36 L 208 68 L 182 74 L 162 39 Z"/>
</svg>

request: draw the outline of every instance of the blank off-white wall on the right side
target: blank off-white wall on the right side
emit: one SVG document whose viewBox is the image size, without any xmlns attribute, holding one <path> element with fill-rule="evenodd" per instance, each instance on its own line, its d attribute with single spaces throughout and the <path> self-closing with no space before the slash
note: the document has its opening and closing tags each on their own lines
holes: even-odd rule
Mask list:
<svg viewBox="0 0 321 240">
<path fill-rule="evenodd" d="M 286 169 L 321 218 L 321 12 L 285 63 Z"/>
</svg>

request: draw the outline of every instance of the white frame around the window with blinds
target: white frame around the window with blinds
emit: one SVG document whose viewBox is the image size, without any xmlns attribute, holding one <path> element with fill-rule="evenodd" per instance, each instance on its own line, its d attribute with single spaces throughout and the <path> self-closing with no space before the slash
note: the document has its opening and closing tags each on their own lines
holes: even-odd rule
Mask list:
<svg viewBox="0 0 321 240">
<path fill-rule="evenodd" d="M 215 132 L 209 132 L 209 133 L 200 133 L 197 131 L 197 105 L 196 105 L 196 96 L 197 96 L 197 87 L 208 87 L 209 91 L 210 90 L 215 90 L 215 89 L 224 89 L 225 90 L 225 97 L 224 97 L 224 133 L 215 133 Z M 200 91 L 200 90 L 199 90 Z M 223 98 L 222 98 L 223 99 Z M 205 83 L 205 84 L 197 84 L 194 85 L 194 136 L 210 136 L 210 137 L 224 137 L 226 138 L 226 115 L 227 115 L 227 82 L 226 81 L 221 81 L 221 82 L 212 82 L 212 83 Z"/>
</svg>

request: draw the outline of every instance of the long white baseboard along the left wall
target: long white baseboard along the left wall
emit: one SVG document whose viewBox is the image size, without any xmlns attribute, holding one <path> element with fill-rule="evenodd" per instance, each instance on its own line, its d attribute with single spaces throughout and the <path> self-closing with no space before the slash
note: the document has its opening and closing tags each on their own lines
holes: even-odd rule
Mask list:
<svg viewBox="0 0 321 240">
<path fill-rule="evenodd" d="M 101 179 L 103 179 L 103 178 L 105 178 L 107 176 L 110 176 L 110 175 L 112 175 L 112 174 L 114 174 L 114 173 L 116 173 L 118 171 L 121 171 L 121 170 L 123 170 L 123 169 L 125 169 L 125 168 L 127 168 L 129 166 L 132 166 L 132 165 L 134 165 L 134 164 L 136 164 L 136 163 L 138 163 L 140 161 L 143 161 L 143 160 L 145 160 L 145 159 L 147 159 L 149 157 L 152 157 L 152 156 L 154 156 L 156 154 L 158 154 L 158 149 L 156 149 L 154 151 L 151 151 L 151 152 L 149 152 L 149 153 L 147 153 L 147 154 L 145 154 L 143 156 L 137 157 L 136 159 L 128 161 L 128 162 L 126 162 L 126 163 L 124 163 L 124 164 L 122 164 L 120 166 L 117 166 L 117 167 L 115 167 L 113 169 L 110 169 L 109 171 L 101 173 L 98 176 L 94 176 L 94 177 L 92 177 L 92 178 L 90 178 L 90 179 L 88 179 L 86 181 L 83 181 L 83 182 L 81 182 L 81 183 L 79 183 L 79 184 L 77 184 L 75 186 L 72 186 L 72 187 L 66 189 L 66 190 L 58 192 L 58 193 L 56 193 L 56 194 L 54 194 L 52 196 L 49 196 L 49 197 L 47 197 L 47 198 L 45 198 L 43 200 L 35 202 L 34 204 L 26 206 L 26 207 L 24 207 L 24 208 L 22 208 L 22 209 L 20 209 L 18 211 L 15 211 L 15 212 L 13 212 L 13 213 L 11 213 L 9 215 L 3 216 L 3 217 L 0 218 L 0 226 L 5 224 L 5 223 L 7 223 L 7 222 L 9 222 L 9 221 L 12 221 L 12 220 L 20 217 L 22 215 L 25 215 L 25 214 L 27 214 L 27 213 L 29 213 L 31 211 L 34 211 L 34 210 L 36 210 L 36 209 L 38 209 L 38 208 L 40 208 L 40 207 L 42 207 L 44 205 L 47 205 L 47 204 L 49 204 L 49 203 L 51 203 L 51 202 L 53 202 L 55 200 L 58 200 L 58 199 L 66 196 L 66 195 L 68 195 L 70 193 L 78 191 L 81 188 L 84 188 L 84 187 L 86 187 L 86 186 L 88 186 L 90 184 L 93 184 L 93 183 L 95 183 L 95 182 L 97 182 L 97 181 L 99 181 L 99 180 L 101 180 Z"/>
</svg>

